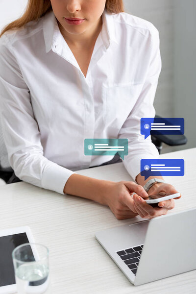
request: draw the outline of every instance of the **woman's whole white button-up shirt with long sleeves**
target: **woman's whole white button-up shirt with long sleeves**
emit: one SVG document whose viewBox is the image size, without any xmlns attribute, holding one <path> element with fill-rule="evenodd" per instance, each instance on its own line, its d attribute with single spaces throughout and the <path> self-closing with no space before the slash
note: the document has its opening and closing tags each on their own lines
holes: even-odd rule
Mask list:
<svg viewBox="0 0 196 294">
<path fill-rule="evenodd" d="M 127 138 L 123 164 L 133 177 L 140 160 L 158 158 L 140 119 L 154 117 L 161 71 L 159 33 L 128 13 L 102 14 L 86 77 L 53 11 L 0 38 L 0 114 L 16 176 L 63 194 L 74 171 L 113 156 L 84 155 L 86 138 Z"/>
</svg>

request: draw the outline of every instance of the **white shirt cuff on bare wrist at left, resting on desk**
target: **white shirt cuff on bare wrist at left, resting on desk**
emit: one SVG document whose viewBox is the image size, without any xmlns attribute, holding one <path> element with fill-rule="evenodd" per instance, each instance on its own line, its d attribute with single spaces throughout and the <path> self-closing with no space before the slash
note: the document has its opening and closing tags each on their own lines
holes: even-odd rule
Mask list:
<svg viewBox="0 0 196 294">
<path fill-rule="evenodd" d="M 42 188 L 55 191 L 62 195 L 67 195 L 63 190 L 68 178 L 73 173 L 77 172 L 73 172 L 54 163 L 43 172 Z"/>
</svg>

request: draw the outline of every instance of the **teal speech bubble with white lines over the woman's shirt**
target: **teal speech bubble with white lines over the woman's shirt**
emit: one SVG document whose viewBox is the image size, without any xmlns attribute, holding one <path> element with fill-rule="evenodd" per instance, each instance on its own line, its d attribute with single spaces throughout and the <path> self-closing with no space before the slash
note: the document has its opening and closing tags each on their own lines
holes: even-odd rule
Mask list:
<svg viewBox="0 0 196 294">
<path fill-rule="evenodd" d="M 124 159 L 128 155 L 128 139 L 85 139 L 85 155 L 115 155 Z"/>
</svg>

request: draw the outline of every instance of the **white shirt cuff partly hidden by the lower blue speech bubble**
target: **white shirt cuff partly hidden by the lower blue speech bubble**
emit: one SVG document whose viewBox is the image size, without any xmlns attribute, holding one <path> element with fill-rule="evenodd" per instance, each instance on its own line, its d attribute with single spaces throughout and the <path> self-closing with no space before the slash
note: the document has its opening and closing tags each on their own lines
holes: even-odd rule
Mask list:
<svg viewBox="0 0 196 294">
<path fill-rule="evenodd" d="M 140 171 L 140 162 L 141 159 L 156 159 L 159 158 L 159 152 L 157 150 L 157 154 L 138 154 L 135 155 L 134 158 L 129 158 L 126 160 L 126 156 L 123 160 L 123 165 L 126 171 L 130 174 L 133 180 L 136 182 L 136 176 L 141 172 Z"/>
</svg>

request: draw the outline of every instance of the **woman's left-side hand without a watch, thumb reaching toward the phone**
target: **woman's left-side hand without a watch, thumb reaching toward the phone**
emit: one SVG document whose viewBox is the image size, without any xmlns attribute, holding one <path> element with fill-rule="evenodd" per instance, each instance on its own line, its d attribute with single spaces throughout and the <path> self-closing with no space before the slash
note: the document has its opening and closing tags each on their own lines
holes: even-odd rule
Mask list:
<svg viewBox="0 0 196 294">
<path fill-rule="evenodd" d="M 131 181 L 112 182 L 105 191 L 103 204 L 109 206 L 118 220 L 131 219 L 138 215 L 134 207 L 131 194 L 135 192 L 143 198 L 148 197 L 147 192 L 141 185 Z"/>
</svg>

